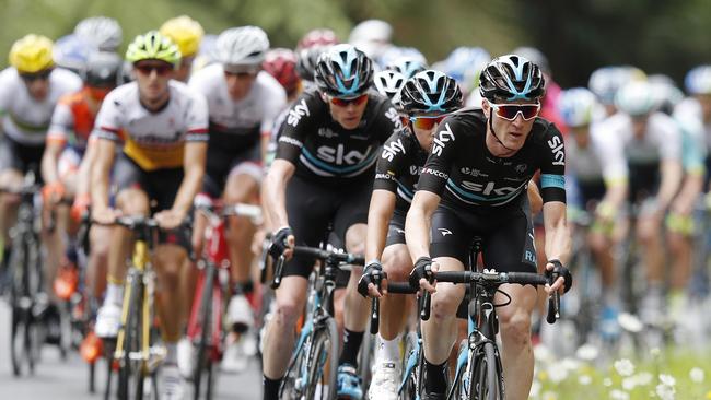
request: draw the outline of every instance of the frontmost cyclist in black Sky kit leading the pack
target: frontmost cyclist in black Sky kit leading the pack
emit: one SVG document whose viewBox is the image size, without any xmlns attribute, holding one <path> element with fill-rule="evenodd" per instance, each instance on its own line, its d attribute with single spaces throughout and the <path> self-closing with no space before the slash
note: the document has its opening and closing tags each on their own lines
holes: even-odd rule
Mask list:
<svg viewBox="0 0 711 400">
<path fill-rule="evenodd" d="M 562 289 L 563 282 L 568 289 L 572 283 L 562 267 L 570 251 L 564 144 L 553 125 L 536 118 L 544 85 L 539 68 L 527 59 L 516 55 L 496 58 L 481 72 L 482 109 L 455 113 L 440 123 L 405 223 L 415 264 L 412 285 L 434 292 L 426 279 L 430 268 L 462 271 L 475 235 L 483 239 L 485 264 L 500 271 L 535 272 L 526 187 L 538 169 L 546 267 L 568 278 L 561 277 L 546 291 Z M 526 399 L 533 380 L 531 315 L 537 293 L 520 285 L 502 290 L 511 295 L 511 303 L 498 313 L 506 398 Z M 438 285 L 432 296 L 432 317 L 422 325 L 423 399 L 445 398 L 446 360 L 456 338 L 455 314 L 463 296 L 464 286 L 452 284 Z"/>
</svg>

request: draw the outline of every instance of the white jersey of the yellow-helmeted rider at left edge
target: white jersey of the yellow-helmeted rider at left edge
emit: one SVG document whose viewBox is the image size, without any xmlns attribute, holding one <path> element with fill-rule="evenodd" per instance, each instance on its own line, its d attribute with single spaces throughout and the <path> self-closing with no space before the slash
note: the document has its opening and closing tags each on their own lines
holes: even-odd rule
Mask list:
<svg viewBox="0 0 711 400">
<path fill-rule="evenodd" d="M 49 75 L 49 93 L 42 102 L 30 91 L 14 68 L 0 72 L 0 118 L 2 131 L 13 141 L 24 145 L 45 143 L 49 121 L 60 96 L 82 87 L 75 73 L 56 68 Z"/>
</svg>

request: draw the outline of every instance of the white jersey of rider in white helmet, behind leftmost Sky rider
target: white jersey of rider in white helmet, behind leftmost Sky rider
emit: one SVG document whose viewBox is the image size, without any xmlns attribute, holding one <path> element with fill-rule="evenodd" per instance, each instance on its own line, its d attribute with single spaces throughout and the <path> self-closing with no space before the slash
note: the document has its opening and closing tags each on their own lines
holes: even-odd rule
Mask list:
<svg viewBox="0 0 711 400">
<path fill-rule="evenodd" d="M 257 75 L 247 96 L 236 102 L 228 93 L 222 64 L 210 64 L 196 72 L 189 85 L 208 101 L 212 134 L 269 134 L 275 120 L 287 107 L 283 87 L 264 71 Z"/>
</svg>

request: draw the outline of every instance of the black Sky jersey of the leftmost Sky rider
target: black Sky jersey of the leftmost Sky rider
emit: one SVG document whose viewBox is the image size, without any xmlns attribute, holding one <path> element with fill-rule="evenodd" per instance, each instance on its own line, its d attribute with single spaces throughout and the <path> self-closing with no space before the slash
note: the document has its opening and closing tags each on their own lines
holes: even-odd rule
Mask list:
<svg viewBox="0 0 711 400">
<path fill-rule="evenodd" d="M 343 185 L 371 177 L 380 146 L 401 127 L 391 102 L 378 94 L 369 94 L 360 126 L 347 130 L 333 119 L 318 92 L 305 92 L 280 128 L 277 158 L 294 164 L 295 175 L 304 179 Z"/>
</svg>

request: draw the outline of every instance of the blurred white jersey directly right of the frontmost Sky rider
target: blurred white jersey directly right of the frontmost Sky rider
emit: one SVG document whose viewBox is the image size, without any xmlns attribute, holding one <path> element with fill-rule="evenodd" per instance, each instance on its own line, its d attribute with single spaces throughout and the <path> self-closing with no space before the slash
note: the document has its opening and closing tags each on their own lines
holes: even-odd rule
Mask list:
<svg viewBox="0 0 711 400">
<path fill-rule="evenodd" d="M 604 180 L 607 185 L 627 179 L 628 169 L 625 150 L 620 140 L 610 138 L 601 123 L 590 129 L 590 142 L 585 148 L 578 146 L 573 134 L 566 139 L 566 174 L 580 183 Z"/>
</svg>

